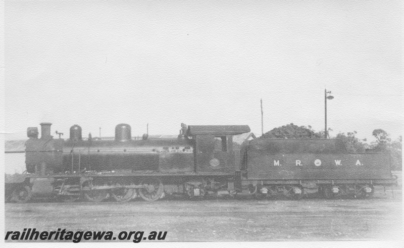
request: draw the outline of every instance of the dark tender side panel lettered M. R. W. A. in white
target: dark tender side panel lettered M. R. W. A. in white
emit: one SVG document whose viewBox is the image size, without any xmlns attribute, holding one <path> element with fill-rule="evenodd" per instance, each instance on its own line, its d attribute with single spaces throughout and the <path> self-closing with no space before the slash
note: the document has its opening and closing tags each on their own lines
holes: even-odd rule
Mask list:
<svg viewBox="0 0 404 248">
<path fill-rule="evenodd" d="M 267 154 L 248 151 L 248 179 L 391 179 L 388 154 Z"/>
</svg>

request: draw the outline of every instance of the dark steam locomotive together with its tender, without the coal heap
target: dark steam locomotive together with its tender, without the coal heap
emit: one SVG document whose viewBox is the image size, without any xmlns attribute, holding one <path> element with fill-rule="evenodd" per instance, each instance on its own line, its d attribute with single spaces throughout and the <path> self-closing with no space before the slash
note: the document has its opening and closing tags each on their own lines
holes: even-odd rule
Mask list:
<svg viewBox="0 0 404 248">
<path fill-rule="evenodd" d="M 156 201 L 219 190 L 299 199 L 307 188 L 324 197 L 367 197 L 374 185 L 394 184 L 388 154 L 348 153 L 338 139 L 252 139 L 233 148 L 233 135 L 248 126 L 181 124 L 177 138 L 133 139 L 130 125 L 118 124 L 113 140 L 84 140 L 73 125 L 64 140 L 51 136 L 51 123 L 40 125 L 40 138 L 36 127 L 27 129 L 27 174 L 6 178 L 6 201 L 54 196 L 69 202 L 82 195 L 92 202 L 137 195 Z"/>
</svg>

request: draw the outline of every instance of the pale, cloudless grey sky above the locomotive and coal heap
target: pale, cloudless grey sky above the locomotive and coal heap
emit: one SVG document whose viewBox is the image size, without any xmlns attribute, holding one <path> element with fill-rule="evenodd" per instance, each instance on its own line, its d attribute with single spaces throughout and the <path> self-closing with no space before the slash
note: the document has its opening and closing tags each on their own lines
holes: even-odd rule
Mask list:
<svg viewBox="0 0 404 248">
<path fill-rule="evenodd" d="M 180 124 L 402 133 L 400 1 L 6 1 L 5 139 Z M 56 137 L 56 134 L 54 134 Z"/>
</svg>

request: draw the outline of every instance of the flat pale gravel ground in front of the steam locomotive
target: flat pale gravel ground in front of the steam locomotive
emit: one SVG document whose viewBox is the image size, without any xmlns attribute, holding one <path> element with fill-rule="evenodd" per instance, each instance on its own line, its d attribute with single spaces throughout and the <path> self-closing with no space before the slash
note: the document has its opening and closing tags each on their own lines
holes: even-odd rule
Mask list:
<svg viewBox="0 0 404 248">
<path fill-rule="evenodd" d="M 396 240 L 402 235 L 401 188 L 372 199 L 203 200 L 100 204 L 36 201 L 5 205 L 5 231 L 168 231 L 166 241 Z M 128 240 L 131 241 L 131 240 Z"/>
</svg>

